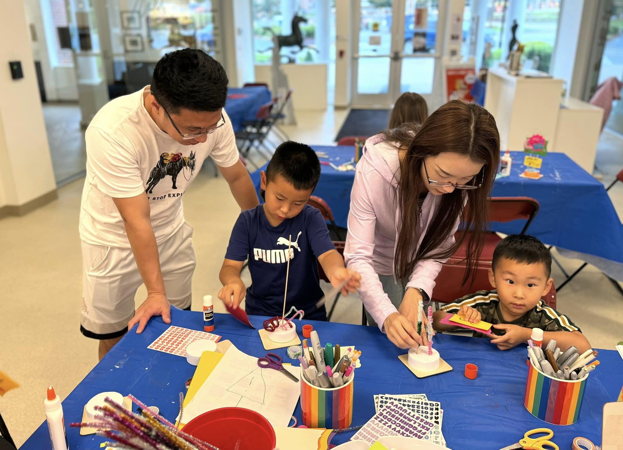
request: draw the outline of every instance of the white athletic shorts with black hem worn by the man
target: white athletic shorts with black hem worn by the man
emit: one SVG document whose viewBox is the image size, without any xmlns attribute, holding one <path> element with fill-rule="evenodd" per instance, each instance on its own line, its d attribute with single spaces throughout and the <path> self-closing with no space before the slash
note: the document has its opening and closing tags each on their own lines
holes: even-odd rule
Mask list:
<svg viewBox="0 0 623 450">
<path fill-rule="evenodd" d="M 197 263 L 192 237 L 193 227 L 184 222 L 158 245 L 166 296 L 180 309 L 191 305 L 191 280 Z M 132 249 L 82 242 L 82 267 L 80 331 L 95 339 L 122 336 L 134 316 L 136 290 L 143 284 Z"/>
</svg>

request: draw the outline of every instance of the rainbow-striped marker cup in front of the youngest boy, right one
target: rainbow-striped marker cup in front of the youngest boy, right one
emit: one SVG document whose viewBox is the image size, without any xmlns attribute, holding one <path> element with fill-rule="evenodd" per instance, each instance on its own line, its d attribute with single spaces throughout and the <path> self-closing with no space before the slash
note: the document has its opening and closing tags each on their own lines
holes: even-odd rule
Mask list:
<svg viewBox="0 0 623 450">
<path fill-rule="evenodd" d="M 582 380 L 560 380 L 537 370 L 530 361 L 523 404 L 533 416 L 547 423 L 576 423 L 589 376 L 590 373 Z"/>
</svg>

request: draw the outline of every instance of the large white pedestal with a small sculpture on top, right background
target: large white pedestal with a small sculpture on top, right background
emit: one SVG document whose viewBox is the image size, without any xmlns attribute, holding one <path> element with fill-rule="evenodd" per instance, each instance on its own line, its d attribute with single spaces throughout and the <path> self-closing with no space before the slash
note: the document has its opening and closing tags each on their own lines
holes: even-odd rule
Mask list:
<svg viewBox="0 0 623 450">
<path fill-rule="evenodd" d="M 523 142 L 539 134 L 548 141 L 548 151 L 556 151 L 562 90 L 561 79 L 515 77 L 503 67 L 489 69 L 485 109 L 495 118 L 500 149 L 523 150 Z"/>
</svg>

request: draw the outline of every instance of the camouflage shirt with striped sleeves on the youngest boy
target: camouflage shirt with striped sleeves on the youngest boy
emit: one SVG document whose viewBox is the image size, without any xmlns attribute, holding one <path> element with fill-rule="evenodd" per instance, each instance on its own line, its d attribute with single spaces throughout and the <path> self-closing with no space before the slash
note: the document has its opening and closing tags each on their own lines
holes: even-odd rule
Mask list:
<svg viewBox="0 0 623 450">
<path fill-rule="evenodd" d="M 560 314 L 543 302 L 543 300 L 539 300 L 533 309 L 520 318 L 508 322 L 502 317 L 497 290 L 479 290 L 475 294 L 465 295 L 462 299 L 444 305 L 441 309 L 445 312 L 456 314 L 463 305 L 478 310 L 480 315 L 482 315 L 480 320 L 493 323 L 493 325 L 510 323 L 525 328 L 541 328 L 543 331 L 581 331 L 566 315 Z M 496 328 L 491 328 L 491 332 L 497 335 L 505 333 L 504 330 L 497 330 Z M 487 335 L 478 332 L 473 332 L 473 336 L 488 338 Z"/>
</svg>

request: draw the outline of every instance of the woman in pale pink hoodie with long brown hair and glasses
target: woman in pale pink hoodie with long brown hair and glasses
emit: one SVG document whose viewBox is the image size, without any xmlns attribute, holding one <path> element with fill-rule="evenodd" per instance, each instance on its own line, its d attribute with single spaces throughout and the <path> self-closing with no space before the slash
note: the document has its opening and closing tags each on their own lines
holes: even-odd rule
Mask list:
<svg viewBox="0 0 623 450">
<path fill-rule="evenodd" d="M 422 127 L 405 124 L 366 141 L 344 256 L 348 269 L 361 274 L 368 322 L 397 347 L 426 345 L 426 335 L 416 332 L 417 303 L 430 299 L 442 263 L 467 236 L 465 280 L 473 273 L 499 158 L 493 116 L 459 100 L 437 109 Z M 465 229 L 472 232 L 466 236 Z"/>
</svg>

